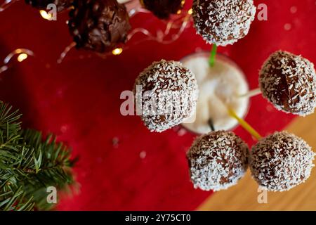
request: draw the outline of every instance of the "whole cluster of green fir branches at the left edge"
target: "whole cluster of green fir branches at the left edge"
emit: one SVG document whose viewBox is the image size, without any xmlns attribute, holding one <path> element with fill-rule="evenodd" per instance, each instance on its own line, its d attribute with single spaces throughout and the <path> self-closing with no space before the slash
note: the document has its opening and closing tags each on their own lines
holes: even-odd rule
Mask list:
<svg viewBox="0 0 316 225">
<path fill-rule="evenodd" d="M 50 210 L 46 189 L 74 182 L 70 149 L 55 136 L 20 129 L 18 111 L 0 102 L 0 210 Z"/>
</svg>

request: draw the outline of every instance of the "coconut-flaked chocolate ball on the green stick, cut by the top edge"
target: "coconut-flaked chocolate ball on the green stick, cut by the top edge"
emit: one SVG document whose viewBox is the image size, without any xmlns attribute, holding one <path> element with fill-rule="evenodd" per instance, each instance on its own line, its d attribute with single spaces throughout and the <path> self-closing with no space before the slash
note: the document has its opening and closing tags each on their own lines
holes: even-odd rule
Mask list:
<svg viewBox="0 0 316 225">
<path fill-rule="evenodd" d="M 197 34 L 218 46 L 245 37 L 256 15 L 253 0 L 194 0 L 192 10 Z"/>
</svg>

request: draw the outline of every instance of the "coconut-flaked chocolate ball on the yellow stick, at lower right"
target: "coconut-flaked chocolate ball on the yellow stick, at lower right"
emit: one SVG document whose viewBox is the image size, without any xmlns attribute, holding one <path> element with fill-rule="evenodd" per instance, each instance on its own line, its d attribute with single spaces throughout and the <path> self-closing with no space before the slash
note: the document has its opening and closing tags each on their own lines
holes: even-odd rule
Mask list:
<svg viewBox="0 0 316 225">
<path fill-rule="evenodd" d="M 286 131 L 261 139 L 249 155 L 251 174 L 268 191 L 288 191 L 310 176 L 315 153 L 303 139 Z"/>
</svg>

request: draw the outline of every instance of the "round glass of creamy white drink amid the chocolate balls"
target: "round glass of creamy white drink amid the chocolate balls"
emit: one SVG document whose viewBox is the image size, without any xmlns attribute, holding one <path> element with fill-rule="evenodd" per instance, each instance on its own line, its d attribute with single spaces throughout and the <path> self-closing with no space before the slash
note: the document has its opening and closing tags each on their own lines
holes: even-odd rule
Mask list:
<svg viewBox="0 0 316 225">
<path fill-rule="evenodd" d="M 209 66 L 209 52 L 192 53 L 180 60 L 192 70 L 199 86 L 199 98 L 195 115 L 183 122 L 185 129 L 195 134 L 215 130 L 232 130 L 238 122 L 228 113 L 228 108 L 241 117 L 249 110 L 249 85 L 244 72 L 227 56 L 218 54 L 213 67 Z"/>
</svg>

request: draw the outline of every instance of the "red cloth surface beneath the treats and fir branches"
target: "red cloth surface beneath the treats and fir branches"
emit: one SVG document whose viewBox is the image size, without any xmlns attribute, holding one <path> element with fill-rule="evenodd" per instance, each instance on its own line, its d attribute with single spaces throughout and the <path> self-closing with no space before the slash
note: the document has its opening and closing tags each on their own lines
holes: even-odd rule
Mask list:
<svg viewBox="0 0 316 225">
<path fill-rule="evenodd" d="M 273 51 L 291 51 L 316 62 L 315 0 L 259 3 L 268 5 L 268 21 L 256 19 L 247 37 L 219 48 L 244 70 L 251 88 L 258 86 L 258 70 Z M 291 6 L 297 7 L 296 13 Z M 79 191 L 63 198 L 58 210 L 195 210 L 211 195 L 190 183 L 185 152 L 195 135 L 182 135 L 179 127 L 150 133 L 139 117 L 121 116 L 119 96 L 153 60 L 179 60 L 211 46 L 190 27 L 170 45 L 147 41 L 107 59 L 92 54 L 80 60 L 79 55 L 89 53 L 74 50 L 58 65 L 58 55 L 72 41 L 66 20 L 67 13 L 57 22 L 43 20 L 23 1 L 0 13 L 0 59 L 20 47 L 36 53 L 0 75 L 0 99 L 21 109 L 24 127 L 57 134 L 80 157 L 74 168 Z M 284 30 L 287 23 L 291 30 Z M 161 22 L 140 15 L 132 24 L 154 29 Z M 292 118 L 256 96 L 246 120 L 265 135 Z M 240 127 L 235 131 L 249 145 L 254 143 Z M 118 146 L 113 138 L 119 139 Z"/>
</svg>

